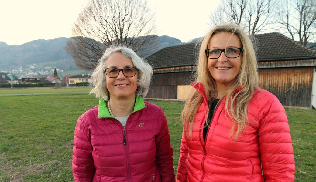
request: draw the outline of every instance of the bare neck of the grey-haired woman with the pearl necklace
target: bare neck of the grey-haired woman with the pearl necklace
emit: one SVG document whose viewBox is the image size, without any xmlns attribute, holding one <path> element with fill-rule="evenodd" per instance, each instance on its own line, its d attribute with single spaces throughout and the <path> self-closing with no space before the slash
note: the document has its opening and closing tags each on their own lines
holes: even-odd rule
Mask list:
<svg viewBox="0 0 316 182">
<path fill-rule="evenodd" d="M 110 107 L 115 117 L 126 117 L 134 110 L 135 96 L 127 98 L 116 98 L 110 95 Z"/>
</svg>

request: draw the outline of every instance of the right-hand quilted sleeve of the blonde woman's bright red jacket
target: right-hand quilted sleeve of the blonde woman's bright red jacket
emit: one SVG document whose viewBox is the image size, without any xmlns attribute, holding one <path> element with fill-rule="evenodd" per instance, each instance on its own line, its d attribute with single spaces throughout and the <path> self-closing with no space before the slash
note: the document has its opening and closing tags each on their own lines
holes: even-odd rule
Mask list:
<svg viewBox="0 0 316 182">
<path fill-rule="evenodd" d="M 262 118 L 258 129 L 258 141 L 264 181 L 294 181 L 292 139 L 283 106 L 272 95 L 267 104 L 264 104 L 260 115 Z"/>
</svg>

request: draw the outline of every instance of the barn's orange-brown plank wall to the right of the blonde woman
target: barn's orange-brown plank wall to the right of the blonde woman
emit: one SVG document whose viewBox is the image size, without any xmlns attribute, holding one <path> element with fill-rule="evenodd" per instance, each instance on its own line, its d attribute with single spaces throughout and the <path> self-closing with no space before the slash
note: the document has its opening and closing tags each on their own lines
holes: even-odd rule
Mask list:
<svg viewBox="0 0 316 182">
<path fill-rule="evenodd" d="M 259 87 L 273 93 L 282 105 L 310 107 L 313 68 L 259 69 Z"/>
</svg>

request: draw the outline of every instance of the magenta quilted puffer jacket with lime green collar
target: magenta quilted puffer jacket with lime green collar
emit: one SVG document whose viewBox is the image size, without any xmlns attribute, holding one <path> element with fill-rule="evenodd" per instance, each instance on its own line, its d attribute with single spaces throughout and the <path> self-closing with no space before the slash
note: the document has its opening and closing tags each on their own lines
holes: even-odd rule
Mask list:
<svg viewBox="0 0 316 182">
<path fill-rule="evenodd" d="M 72 172 L 76 182 L 174 182 L 172 155 L 161 108 L 137 97 L 123 128 L 101 99 L 77 121 Z"/>
</svg>

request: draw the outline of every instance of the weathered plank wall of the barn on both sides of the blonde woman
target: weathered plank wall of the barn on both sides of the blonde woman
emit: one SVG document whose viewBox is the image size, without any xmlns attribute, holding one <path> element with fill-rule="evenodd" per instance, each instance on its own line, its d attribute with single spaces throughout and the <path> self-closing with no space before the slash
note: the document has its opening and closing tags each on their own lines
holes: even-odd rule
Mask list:
<svg viewBox="0 0 316 182">
<path fill-rule="evenodd" d="M 273 93 L 283 105 L 310 107 L 314 68 L 316 66 L 259 68 L 259 87 Z M 177 98 L 177 85 L 189 85 L 191 73 L 154 74 L 146 97 Z"/>
</svg>

